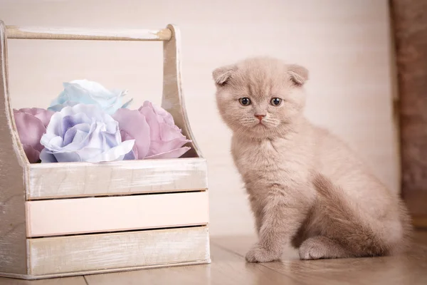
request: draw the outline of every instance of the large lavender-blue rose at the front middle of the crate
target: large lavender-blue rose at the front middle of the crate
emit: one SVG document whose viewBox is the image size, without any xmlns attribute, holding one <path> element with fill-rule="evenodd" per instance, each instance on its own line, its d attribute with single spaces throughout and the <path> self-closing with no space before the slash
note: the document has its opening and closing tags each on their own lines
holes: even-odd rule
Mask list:
<svg viewBox="0 0 427 285">
<path fill-rule="evenodd" d="M 97 105 L 77 104 L 53 114 L 41 137 L 41 162 L 123 160 L 135 140 L 122 142 L 117 121 Z M 132 152 L 128 155 L 132 157 Z"/>
</svg>

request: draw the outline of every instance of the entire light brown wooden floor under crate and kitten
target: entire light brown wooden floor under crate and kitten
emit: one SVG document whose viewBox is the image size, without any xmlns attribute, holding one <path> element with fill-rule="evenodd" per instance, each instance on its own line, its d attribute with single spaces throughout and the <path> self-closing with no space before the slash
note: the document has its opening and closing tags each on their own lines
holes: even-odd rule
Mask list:
<svg viewBox="0 0 427 285">
<path fill-rule="evenodd" d="M 413 247 L 401 257 L 300 261 L 288 249 L 283 261 L 247 264 L 243 258 L 251 237 L 211 240 L 212 263 L 164 269 L 23 281 L 0 278 L 0 285 L 131 285 L 131 284 L 427 284 L 427 232 L 417 232 Z"/>
</svg>

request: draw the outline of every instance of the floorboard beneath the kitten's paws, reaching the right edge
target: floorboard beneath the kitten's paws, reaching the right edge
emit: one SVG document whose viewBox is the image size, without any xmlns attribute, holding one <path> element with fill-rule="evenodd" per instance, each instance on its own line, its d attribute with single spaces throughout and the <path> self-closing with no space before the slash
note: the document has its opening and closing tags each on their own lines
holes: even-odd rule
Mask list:
<svg viewBox="0 0 427 285">
<path fill-rule="evenodd" d="M 213 239 L 243 259 L 254 237 Z M 282 261 L 260 264 L 302 284 L 427 284 L 427 232 L 416 232 L 413 247 L 402 256 L 301 261 L 286 249 Z"/>
</svg>

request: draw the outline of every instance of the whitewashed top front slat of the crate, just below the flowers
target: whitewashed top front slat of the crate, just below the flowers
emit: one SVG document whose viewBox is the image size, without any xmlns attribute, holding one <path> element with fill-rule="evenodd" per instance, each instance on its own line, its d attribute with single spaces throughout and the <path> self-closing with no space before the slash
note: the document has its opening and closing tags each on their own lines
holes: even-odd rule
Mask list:
<svg viewBox="0 0 427 285">
<path fill-rule="evenodd" d="M 39 163 L 28 170 L 27 199 L 204 190 L 203 158 Z"/>
</svg>

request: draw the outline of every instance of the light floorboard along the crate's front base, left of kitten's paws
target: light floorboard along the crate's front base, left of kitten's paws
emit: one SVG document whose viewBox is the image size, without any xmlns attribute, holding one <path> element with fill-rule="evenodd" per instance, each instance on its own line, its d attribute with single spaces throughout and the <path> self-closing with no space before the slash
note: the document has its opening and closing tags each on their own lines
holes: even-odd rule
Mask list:
<svg viewBox="0 0 427 285">
<path fill-rule="evenodd" d="M 293 285 L 301 283 L 211 244 L 212 264 L 85 276 L 89 285 Z"/>
</svg>

